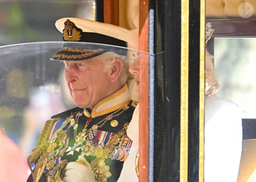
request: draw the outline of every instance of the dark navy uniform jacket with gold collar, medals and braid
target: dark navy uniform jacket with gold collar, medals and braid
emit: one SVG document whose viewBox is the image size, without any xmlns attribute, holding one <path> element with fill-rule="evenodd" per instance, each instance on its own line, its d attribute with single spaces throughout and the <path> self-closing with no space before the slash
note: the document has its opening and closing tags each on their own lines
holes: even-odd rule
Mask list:
<svg viewBox="0 0 256 182">
<path fill-rule="evenodd" d="M 27 181 L 60 181 L 66 164 L 82 155 L 96 181 L 116 182 L 132 145 L 126 130 L 136 105 L 125 85 L 93 109 L 76 107 L 53 116 L 28 157 L 35 168 Z"/>
</svg>

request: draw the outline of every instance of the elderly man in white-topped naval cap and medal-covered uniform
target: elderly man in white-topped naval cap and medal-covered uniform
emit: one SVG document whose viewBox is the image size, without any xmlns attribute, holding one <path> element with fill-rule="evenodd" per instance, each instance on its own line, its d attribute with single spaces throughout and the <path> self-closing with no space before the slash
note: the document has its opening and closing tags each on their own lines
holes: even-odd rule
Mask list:
<svg viewBox="0 0 256 182">
<path fill-rule="evenodd" d="M 126 131 L 138 104 L 126 85 L 125 47 L 132 37 L 127 29 L 82 18 L 61 18 L 56 27 L 65 43 L 51 60 L 64 63 L 77 107 L 46 122 L 28 157 L 35 167 L 27 181 L 116 182 L 132 145 Z"/>
</svg>

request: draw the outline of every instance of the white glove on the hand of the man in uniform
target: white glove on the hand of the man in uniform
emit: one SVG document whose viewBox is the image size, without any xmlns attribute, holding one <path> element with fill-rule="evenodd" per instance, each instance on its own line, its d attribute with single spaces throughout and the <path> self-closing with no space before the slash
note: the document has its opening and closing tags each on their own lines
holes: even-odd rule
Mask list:
<svg viewBox="0 0 256 182">
<path fill-rule="evenodd" d="M 64 182 L 96 182 L 89 162 L 78 157 L 79 162 L 69 162 L 65 168 Z"/>
</svg>

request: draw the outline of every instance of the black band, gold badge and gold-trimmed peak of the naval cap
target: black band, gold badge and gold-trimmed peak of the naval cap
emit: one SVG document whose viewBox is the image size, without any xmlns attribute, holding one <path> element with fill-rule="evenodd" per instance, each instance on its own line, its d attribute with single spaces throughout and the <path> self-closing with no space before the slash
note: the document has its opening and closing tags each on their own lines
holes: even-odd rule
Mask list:
<svg viewBox="0 0 256 182">
<path fill-rule="evenodd" d="M 106 36 L 99 33 L 83 32 L 75 24 L 69 20 L 64 22 L 63 40 L 67 43 L 60 49 L 51 60 L 79 61 L 94 58 L 105 52 L 113 51 L 119 55 L 127 54 L 127 43 L 117 38 Z M 85 42 L 108 45 L 76 45 L 68 44 L 68 42 Z M 110 46 L 112 45 L 112 46 Z"/>
</svg>

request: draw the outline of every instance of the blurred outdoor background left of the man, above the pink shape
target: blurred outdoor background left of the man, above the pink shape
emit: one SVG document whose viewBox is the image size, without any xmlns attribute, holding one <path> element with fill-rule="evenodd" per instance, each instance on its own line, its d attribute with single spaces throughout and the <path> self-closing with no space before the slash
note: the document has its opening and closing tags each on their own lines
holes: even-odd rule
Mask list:
<svg viewBox="0 0 256 182">
<path fill-rule="evenodd" d="M 62 41 L 57 19 L 94 20 L 95 11 L 95 0 L 0 1 L 0 128 L 26 157 L 53 112 L 74 106 L 61 90 L 63 64 L 49 60 L 61 42 L 42 42 Z"/>
</svg>

